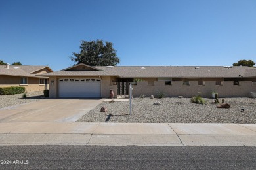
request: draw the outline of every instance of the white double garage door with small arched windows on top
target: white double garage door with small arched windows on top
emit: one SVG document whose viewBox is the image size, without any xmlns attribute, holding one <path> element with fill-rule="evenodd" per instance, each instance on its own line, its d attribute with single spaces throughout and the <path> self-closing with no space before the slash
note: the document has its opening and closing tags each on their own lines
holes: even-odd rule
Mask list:
<svg viewBox="0 0 256 170">
<path fill-rule="evenodd" d="M 101 82 L 97 78 L 60 78 L 58 97 L 101 97 Z"/>
</svg>

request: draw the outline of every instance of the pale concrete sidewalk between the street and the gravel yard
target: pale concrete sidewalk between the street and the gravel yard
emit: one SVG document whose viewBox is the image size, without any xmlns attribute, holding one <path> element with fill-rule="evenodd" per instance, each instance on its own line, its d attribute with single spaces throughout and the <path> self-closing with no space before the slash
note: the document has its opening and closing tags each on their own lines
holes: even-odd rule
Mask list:
<svg viewBox="0 0 256 170">
<path fill-rule="evenodd" d="M 0 145 L 256 146 L 256 124 L 2 122 Z"/>
</svg>

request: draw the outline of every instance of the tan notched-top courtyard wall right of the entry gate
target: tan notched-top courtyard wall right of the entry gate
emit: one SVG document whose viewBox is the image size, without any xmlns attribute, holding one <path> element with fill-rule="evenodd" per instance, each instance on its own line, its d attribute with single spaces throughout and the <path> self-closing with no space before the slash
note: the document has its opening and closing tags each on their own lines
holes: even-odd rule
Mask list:
<svg viewBox="0 0 256 170">
<path fill-rule="evenodd" d="M 163 92 L 167 97 L 192 97 L 201 93 L 202 97 L 211 97 L 211 92 L 219 93 L 219 97 L 251 97 L 250 92 L 256 92 L 256 86 L 249 82 L 240 82 L 240 85 L 234 86 L 233 82 L 222 82 L 217 86 L 215 81 L 203 82 L 204 85 L 198 85 L 198 82 L 190 82 L 190 85 L 184 86 L 182 81 L 173 81 L 172 85 L 165 85 L 165 82 L 154 82 L 154 86 L 148 85 L 148 82 L 137 82 L 133 85 L 133 97 L 139 97 L 140 94 L 150 97 L 157 96 L 158 92 Z"/>
</svg>

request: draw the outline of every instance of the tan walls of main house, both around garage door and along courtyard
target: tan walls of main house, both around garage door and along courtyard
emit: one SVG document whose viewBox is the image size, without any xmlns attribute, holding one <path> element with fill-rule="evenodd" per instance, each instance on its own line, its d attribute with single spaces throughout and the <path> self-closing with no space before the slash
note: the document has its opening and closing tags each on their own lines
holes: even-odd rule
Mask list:
<svg viewBox="0 0 256 170">
<path fill-rule="evenodd" d="M 59 78 L 74 78 L 71 77 L 51 77 L 49 79 L 49 97 L 58 98 L 58 79 Z M 81 76 L 75 78 L 100 78 L 102 98 L 110 97 L 110 90 L 114 90 L 114 97 L 117 97 L 116 77 L 114 76 Z M 201 93 L 202 97 L 211 97 L 211 92 L 216 91 L 219 97 L 251 97 L 249 92 L 256 92 L 256 84 L 252 86 L 251 81 L 242 81 L 239 86 L 234 86 L 232 81 L 221 81 L 223 79 L 203 79 L 203 85 L 198 85 L 197 81 L 190 81 L 189 86 L 184 86 L 183 81 L 172 81 L 171 85 L 165 85 L 165 82 L 157 82 L 157 78 L 141 78 L 149 82 L 137 82 L 133 85 L 133 97 L 139 97 L 140 94 L 150 97 L 156 96 L 158 92 L 163 92 L 167 97 L 192 97 Z M 184 80 L 184 78 L 183 78 Z M 214 80 L 214 81 L 211 81 Z M 221 85 L 216 85 L 215 81 L 221 81 Z M 152 82 L 150 82 L 152 81 Z"/>
</svg>

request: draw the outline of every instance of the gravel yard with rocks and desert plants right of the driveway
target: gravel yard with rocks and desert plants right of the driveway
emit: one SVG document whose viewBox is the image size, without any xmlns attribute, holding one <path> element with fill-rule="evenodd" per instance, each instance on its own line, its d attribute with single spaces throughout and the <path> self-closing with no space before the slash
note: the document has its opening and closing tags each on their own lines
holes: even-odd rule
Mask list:
<svg viewBox="0 0 256 170">
<path fill-rule="evenodd" d="M 153 105 L 156 101 L 161 105 Z M 134 98 L 132 115 L 129 115 L 129 101 L 104 101 L 77 122 L 106 122 L 109 118 L 107 122 L 256 124 L 256 99 L 224 98 L 230 109 L 216 108 L 215 103 L 211 103 L 214 99 L 205 101 L 207 105 L 191 103 L 188 98 Z M 107 107 L 108 111 L 100 112 L 101 107 Z"/>
</svg>

